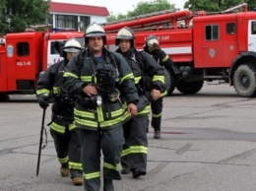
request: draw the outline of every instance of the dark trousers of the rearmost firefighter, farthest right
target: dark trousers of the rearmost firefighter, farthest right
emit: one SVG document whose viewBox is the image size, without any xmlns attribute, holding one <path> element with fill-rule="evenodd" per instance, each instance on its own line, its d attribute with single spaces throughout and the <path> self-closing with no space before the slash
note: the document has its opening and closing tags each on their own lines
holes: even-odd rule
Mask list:
<svg viewBox="0 0 256 191">
<path fill-rule="evenodd" d="M 162 111 L 162 97 L 158 100 L 151 101 L 152 120 L 151 126 L 156 130 L 160 130 L 161 111 Z"/>
</svg>

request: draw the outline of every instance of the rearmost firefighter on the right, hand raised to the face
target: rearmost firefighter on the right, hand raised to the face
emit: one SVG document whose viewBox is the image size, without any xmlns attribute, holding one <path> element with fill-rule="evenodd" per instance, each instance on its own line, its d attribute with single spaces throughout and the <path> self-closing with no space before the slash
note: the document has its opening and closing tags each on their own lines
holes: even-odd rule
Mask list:
<svg viewBox="0 0 256 191">
<path fill-rule="evenodd" d="M 147 37 L 144 50 L 152 55 L 152 57 L 167 71 L 171 70 L 173 62 L 171 58 L 160 49 L 160 40 L 155 34 Z M 169 72 L 166 72 L 169 75 Z M 167 78 L 169 80 L 169 78 Z M 169 83 L 169 82 L 167 82 Z M 166 90 L 167 91 L 167 90 Z M 160 121 L 162 112 L 162 97 L 166 94 L 161 94 L 158 100 L 151 101 L 152 120 L 151 126 L 154 128 L 154 139 L 160 139 Z"/>
</svg>

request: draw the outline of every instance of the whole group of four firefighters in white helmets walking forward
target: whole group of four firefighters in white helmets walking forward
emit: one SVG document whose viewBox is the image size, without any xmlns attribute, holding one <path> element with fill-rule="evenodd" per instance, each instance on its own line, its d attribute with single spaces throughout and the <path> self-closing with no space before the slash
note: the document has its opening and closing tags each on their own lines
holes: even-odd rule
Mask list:
<svg viewBox="0 0 256 191">
<path fill-rule="evenodd" d="M 160 139 L 162 97 L 167 94 L 164 68 L 169 70 L 172 61 L 156 35 L 138 50 L 134 32 L 125 27 L 115 44 L 115 52 L 107 50 L 104 29 L 93 23 L 86 29 L 85 47 L 67 40 L 59 48 L 64 60 L 37 82 L 39 106 L 46 109 L 53 101 L 49 126 L 60 175 L 88 191 L 101 185 L 113 191 L 113 180 L 121 174 L 147 174 L 150 115 L 154 139 Z"/>
</svg>

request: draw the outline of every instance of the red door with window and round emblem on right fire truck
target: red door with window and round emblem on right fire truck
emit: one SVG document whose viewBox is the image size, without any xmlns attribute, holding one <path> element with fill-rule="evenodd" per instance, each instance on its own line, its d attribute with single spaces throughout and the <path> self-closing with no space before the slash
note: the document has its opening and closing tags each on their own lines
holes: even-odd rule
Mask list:
<svg viewBox="0 0 256 191">
<path fill-rule="evenodd" d="M 221 26 L 217 24 L 206 25 L 204 28 L 205 35 L 202 42 L 203 67 L 218 67 L 223 63 L 224 51 L 220 28 Z"/>
</svg>

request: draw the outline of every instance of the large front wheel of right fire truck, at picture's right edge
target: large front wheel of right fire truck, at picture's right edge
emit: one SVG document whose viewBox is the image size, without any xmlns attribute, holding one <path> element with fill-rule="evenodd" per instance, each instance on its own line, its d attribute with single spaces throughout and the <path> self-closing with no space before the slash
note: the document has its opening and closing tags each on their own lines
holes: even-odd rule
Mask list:
<svg viewBox="0 0 256 191">
<path fill-rule="evenodd" d="M 233 75 L 233 87 L 239 96 L 252 97 L 256 93 L 256 67 L 240 65 Z"/>
</svg>

